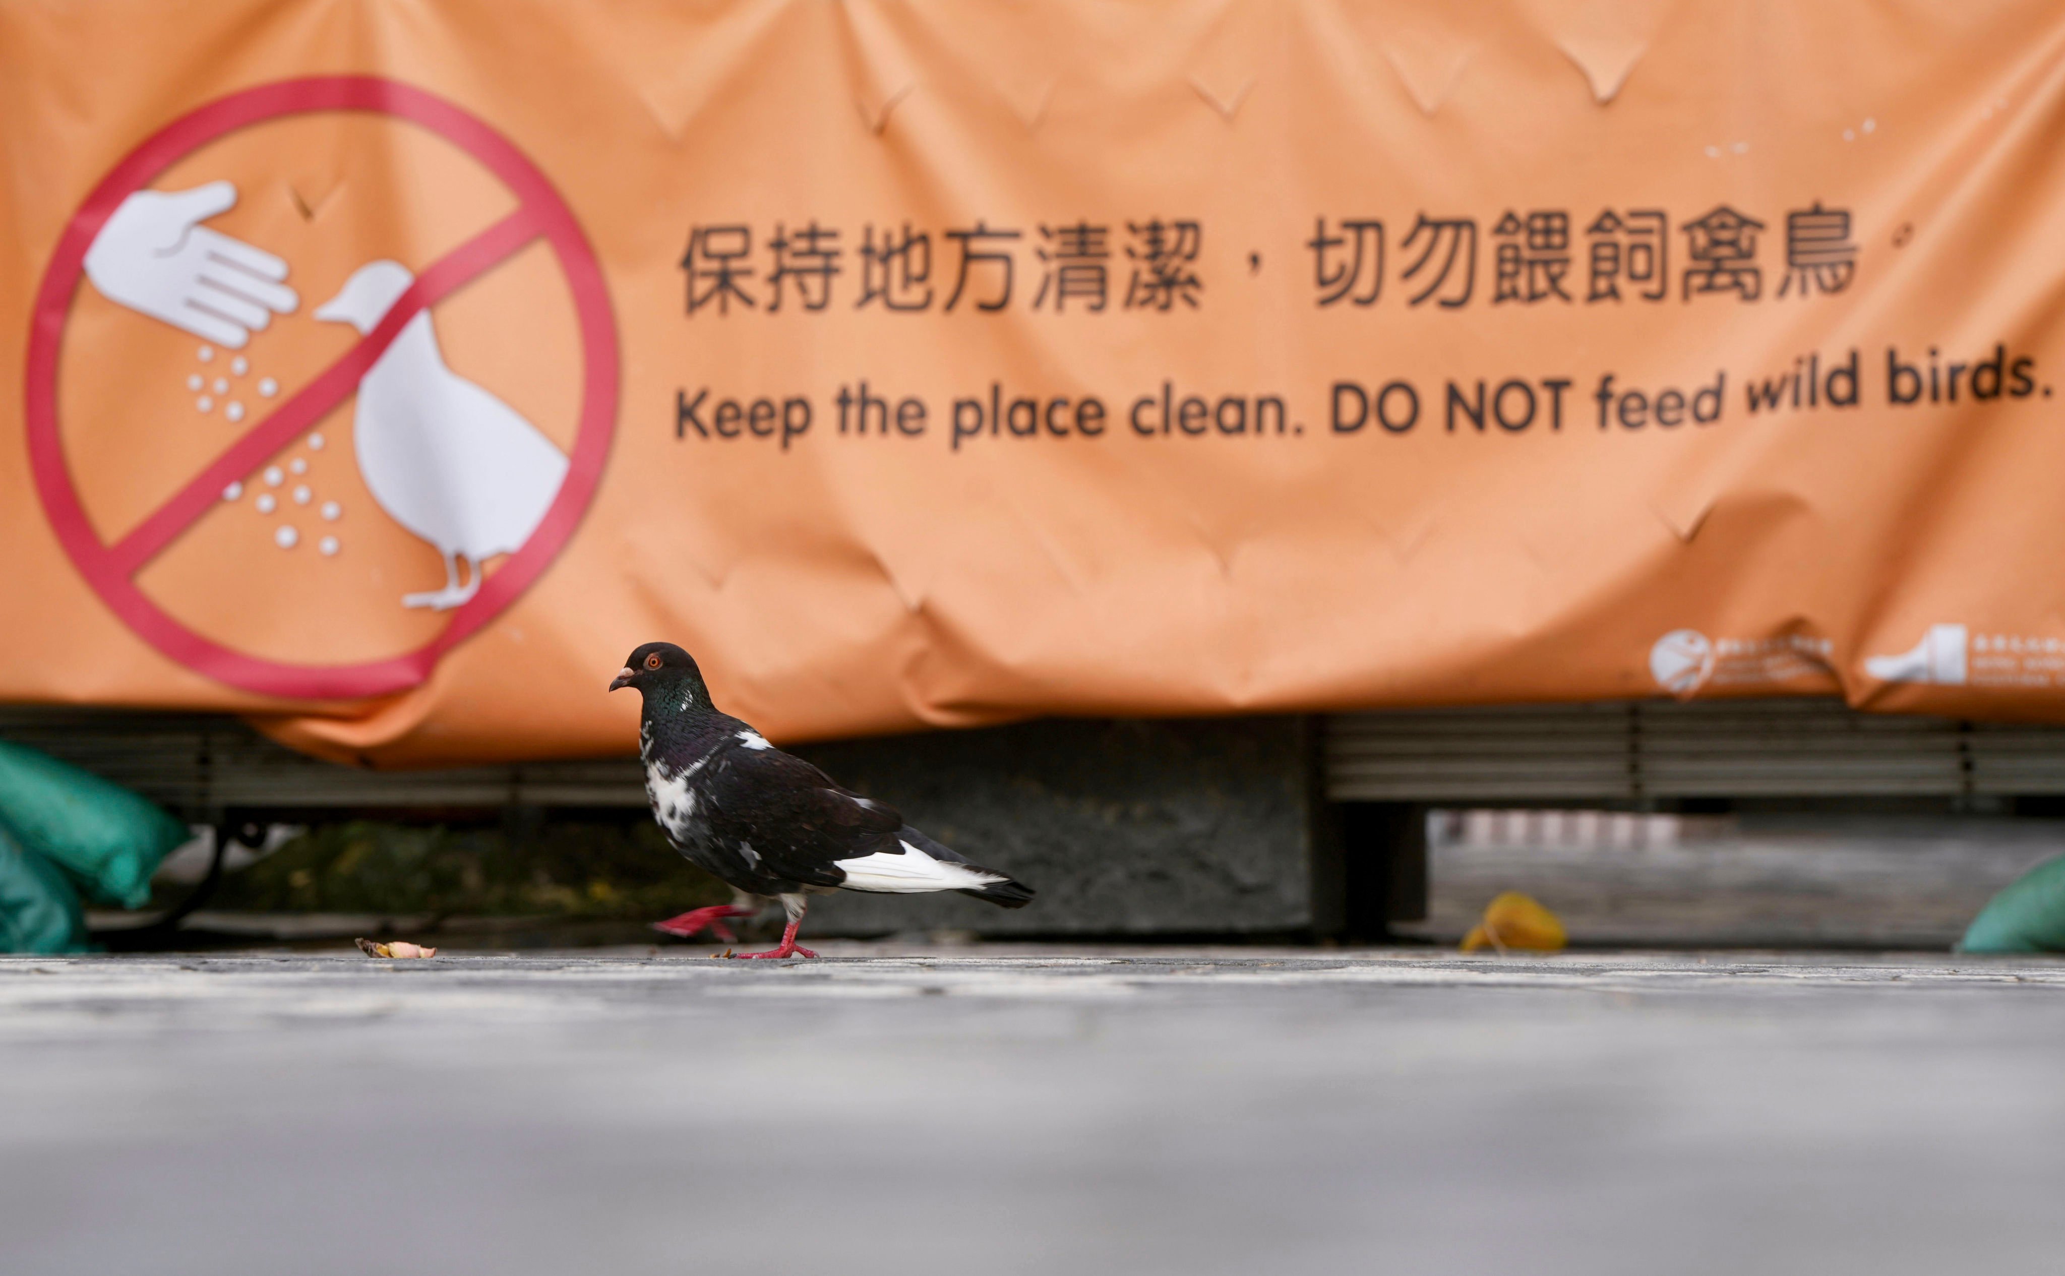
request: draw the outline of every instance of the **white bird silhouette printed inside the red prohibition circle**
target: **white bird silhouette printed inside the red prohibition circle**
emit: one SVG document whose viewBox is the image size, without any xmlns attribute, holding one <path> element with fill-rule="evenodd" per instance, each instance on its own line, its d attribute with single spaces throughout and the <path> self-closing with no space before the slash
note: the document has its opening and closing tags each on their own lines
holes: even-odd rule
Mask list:
<svg viewBox="0 0 2065 1276">
<path fill-rule="evenodd" d="M 316 318 L 372 332 L 411 283 L 401 262 L 368 262 Z M 444 555 L 444 588 L 403 595 L 403 607 L 444 611 L 471 599 L 481 562 L 529 541 L 566 479 L 566 454 L 537 425 L 444 365 L 430 310 L 359 380 L 351 434 L 380 508 Z M 465 584 L 460 557 L 471 568 Z"/>
</svg>

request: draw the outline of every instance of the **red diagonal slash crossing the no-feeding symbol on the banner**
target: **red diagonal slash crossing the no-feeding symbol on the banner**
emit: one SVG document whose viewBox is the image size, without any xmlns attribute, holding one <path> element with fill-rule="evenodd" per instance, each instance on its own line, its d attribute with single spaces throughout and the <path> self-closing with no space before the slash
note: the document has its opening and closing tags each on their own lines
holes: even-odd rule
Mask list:
<svg viewBox="0 0 2065 1276">
<path fill-rule="evenodd" d="M 380 361 L 380 355 L 386 353 L 386 347 L 401 334 L 409 320 L 487 270 L 494 270 L 539 233 L 543 233 L 543 227 L 531 206 L 525 204 L 432 262 L 372 332 L 330 363 L 322 376 L 308 382 L 293 398 L 279 405 L 271 417 L 231 444 L 227 452 L 215 458 L 215 465 L 194 475 L 178 496 L 112 545 L 107 549 L 107 564 L 122 576 L 134 576 L 165 545 L 192 527 L 196 518 L 215 508 L 223 498 L 223 487 L 258 469 L 258 462 L 285 448 L 332 407 L 351 396 L 359 388 L 359 378 Z"/>
</svg>

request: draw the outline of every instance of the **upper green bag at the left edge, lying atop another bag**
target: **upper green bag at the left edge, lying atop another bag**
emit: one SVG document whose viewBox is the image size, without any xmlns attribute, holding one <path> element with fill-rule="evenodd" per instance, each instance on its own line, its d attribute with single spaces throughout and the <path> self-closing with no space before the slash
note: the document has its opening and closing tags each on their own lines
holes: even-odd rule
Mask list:
<svg viewBox="0 0 2065 1276">
<path fill-rule="evenodd" d="M 130 793 L 0 739 L 0 824 L 54 861 L 97 904 L 142 908 L 157 861 L 188 838 L 186 826 Z"/>
</svg>

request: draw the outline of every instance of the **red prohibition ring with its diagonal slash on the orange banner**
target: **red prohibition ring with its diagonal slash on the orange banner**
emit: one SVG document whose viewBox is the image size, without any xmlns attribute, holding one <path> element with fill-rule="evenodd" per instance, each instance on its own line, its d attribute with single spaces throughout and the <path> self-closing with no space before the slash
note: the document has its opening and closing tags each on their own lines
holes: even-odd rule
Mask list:
<svg viewBox="0 0 2065 1276">
<path fill-rule="evenodd" d="M 101 225 L 124 198 L 142 190 L 190 151 L 252 124 L 310 111 L 374 111 L 419 124 L 481 161 L 508 186 L 518 206 L 419 270 L 415 285 L 345 357 L 287 398 L 264 421 L 258 421 L 209 469 L 192 477 L 171 500 L 109 545 L 101 541 L 87 518 L 64 456 L 64 440 L 58 434 L 58 355 L 72 299 L 78 293 L 87 248 L 93 246 L 93 237 L 99 235 Z M 227 648 L 188 630 L 136 586 L 136 572 L 178 539 L 194 518 L 215 508 L 227 483 L 258 469 L 266 456 L 291 444 L 324 413 L 343 403 L 411 318 L 508 260 L 537 237 L 551 246 L 580 322 L 580 427 L 560 493 L 531 539 L 481 582 L 479 593 L 452 609 L 448 624 L 436 638 L 407 655 L 382 661 L 291 665 Z M 72 566 L 130 630 L 180 665 L 246 692 L 293 700 L 347 700 L 403 692 L 427 679 L 444 652 L 514 603 L 572 539 L 582 512 L 595 498 L 609 440 L 615 434 L 617 328 L 609 314 L 603 268 L 595 260 L 586 235 L 580 233 L 572 209 L 508 138 L 442 97 L 409 85 L 380 76 L 312 76 L 231 93 L 173 120 L 130 151 L 93 188 L 93 194 L 64 227 L 50 268 L 43 273 L 43 285 L 37 289 L 25 386 L 29 469 L 43 502 L 43 514 L 56 529 Z"/>
</svg>

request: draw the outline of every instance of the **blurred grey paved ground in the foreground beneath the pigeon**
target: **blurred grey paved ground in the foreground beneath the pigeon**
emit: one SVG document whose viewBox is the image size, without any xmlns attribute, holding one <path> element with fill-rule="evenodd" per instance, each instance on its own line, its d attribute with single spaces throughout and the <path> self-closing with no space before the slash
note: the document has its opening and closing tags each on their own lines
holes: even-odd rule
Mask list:
<svg viewBox="0 0 2065 1276">
<path fill-rule="evenodd" d="M 0 1272 L 2051 1270 L 2065 964 L 0 960 Z"/>
</svg>

